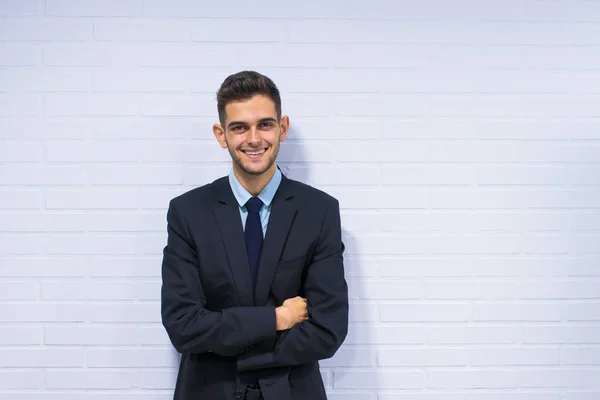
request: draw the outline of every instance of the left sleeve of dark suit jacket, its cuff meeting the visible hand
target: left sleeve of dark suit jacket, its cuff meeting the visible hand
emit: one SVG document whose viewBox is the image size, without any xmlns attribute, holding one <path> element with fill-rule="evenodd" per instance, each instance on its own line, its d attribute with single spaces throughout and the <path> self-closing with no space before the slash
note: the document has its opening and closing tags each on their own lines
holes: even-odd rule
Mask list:
<svg viewBox="0 0 600 400">
<path fill-rule="evenodd" d="M 234 356 L 258 342 L 273 343 L 274 307 L 205 308 L 198 258 L 187 225 L 171 201 L 167 246 L 163 251 L 161 316 L 171 343 L 180 353 L 213 352 Z"/>
</svg>

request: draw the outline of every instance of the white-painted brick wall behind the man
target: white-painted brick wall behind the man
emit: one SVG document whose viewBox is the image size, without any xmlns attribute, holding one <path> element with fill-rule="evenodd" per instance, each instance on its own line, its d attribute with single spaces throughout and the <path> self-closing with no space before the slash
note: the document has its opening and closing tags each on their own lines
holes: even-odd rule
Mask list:
<svg viewBox="0 0 600 400">
<path fill-rule="evenodd" d="M 0 398 L 171 398 L 166 207 L 257 69 L 341 202 L 331 399 L 599 399 L 599 46 L 597 0 L 0 0 Z"/>
</svg>

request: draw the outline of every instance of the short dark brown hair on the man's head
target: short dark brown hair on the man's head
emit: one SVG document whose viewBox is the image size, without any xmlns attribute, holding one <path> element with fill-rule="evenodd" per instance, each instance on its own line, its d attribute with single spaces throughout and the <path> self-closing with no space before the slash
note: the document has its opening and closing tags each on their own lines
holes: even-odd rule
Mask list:
<svg viewBox="0 0 600 400">
<path fill-rule="evenodd" d="M 225 106 L 232 101 L 248 100 L 262 94 L 275 103 L 277 119 L 281 118 L 281 96 L 275 83 L 255 71 L 241 71 L 229 75 L 217 92 L 217 111 L 221 125 L 225 124 Z"/>
</svg>

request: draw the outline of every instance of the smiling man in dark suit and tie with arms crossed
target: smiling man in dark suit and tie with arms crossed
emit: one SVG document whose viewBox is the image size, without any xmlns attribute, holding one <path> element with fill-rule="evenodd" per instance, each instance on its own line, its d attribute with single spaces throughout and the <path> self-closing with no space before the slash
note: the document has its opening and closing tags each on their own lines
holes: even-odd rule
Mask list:
<svg viewBox="0 0 600 400">
<path fill-rule="evenodd" d="M 348 329 L 339 204 L 276 165 L 289 118 L 251 71 L 217 93 L 227 177 L 171 200 L 162 322 L 181 353 L 176 400 L 322 400 L 318 360 Z"/>
</svg>

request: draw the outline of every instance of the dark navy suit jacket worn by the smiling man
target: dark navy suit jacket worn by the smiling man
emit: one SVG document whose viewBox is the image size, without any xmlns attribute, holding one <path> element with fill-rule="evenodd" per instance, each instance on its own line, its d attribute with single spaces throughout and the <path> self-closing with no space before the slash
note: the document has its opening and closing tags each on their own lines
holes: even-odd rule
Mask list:
<svg viewBox="0 0 600 400">
<path fill-rule="evenodd" d="M 174 399 L 243 398 L 248 373 L 265 400 L 326 399 L 318 360 L 348 329 L 338 201 L 282 177 L 255 293 L 227 178 L 171 200 L 167 223 L 161 313 L 181 353 Z M 276 332 L 275 307 L 295 296 L 308 299 L 309 319 Z"/>
</svg>

